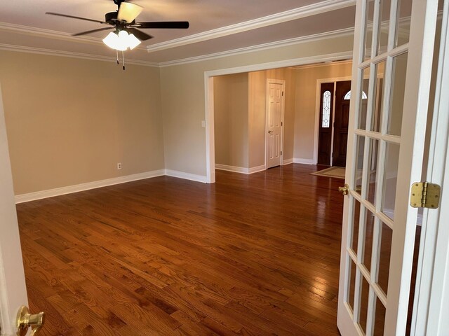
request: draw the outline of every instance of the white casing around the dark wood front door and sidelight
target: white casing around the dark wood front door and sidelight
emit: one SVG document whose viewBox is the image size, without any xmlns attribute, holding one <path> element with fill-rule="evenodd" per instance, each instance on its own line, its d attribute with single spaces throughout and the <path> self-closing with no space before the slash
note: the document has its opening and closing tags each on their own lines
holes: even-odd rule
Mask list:
<svg viewBox="0 0 449 336">
<path fill-rule="evenodd" d="M 344 82 L 346 80 L 351 80 L 352 77 L 334 77 L 334 78 L 320 78 L 316 80 L 316 94 L 315 94 L 315 126 L 314 126 L 314 159 L 313 164 L 318 164 L 318 141 L 319 141 L 319 132 L 320 132 L 320 102 L 321 102 L 321 84 L 323 83 L 334 83 L 334 92 L 333 94 L 333 106 L 332 106 L 332 120 L 335 118 L 335 85 L 337 82 Z M 333 123 L 332 123 L 333 124 Z M 330 125 L 332 127 L 332 132 L 330 134 L 330 166 L 332 166 L 332 151 L 334 144 L 334 125 Z"/>
</svg>

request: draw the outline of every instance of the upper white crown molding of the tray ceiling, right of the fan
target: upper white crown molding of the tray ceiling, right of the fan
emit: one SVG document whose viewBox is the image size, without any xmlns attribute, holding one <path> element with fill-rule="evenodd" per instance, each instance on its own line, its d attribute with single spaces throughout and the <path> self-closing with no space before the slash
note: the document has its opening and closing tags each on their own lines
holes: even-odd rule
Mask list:
<svg viewBox="0 0 449 336">
<path fill-rule="evenodd" d="M 320 3 L 313 3 L 308 6 L 302 6 L 292 10 L 286 10 L 285 12 L 264 16 L 263 18 L 257 18 L 255 20 L 241 22 L 236 25 L 230 25 L 227 27 L 204 31 L 199 34 L 185 36 L 182 38 L 175 38 L 170 41 L 148 45 L 147 52 L 156 52 L 159 50 L 166 50 L 170 48 L 180 47 L 182 45 L 208 41 L 213 38 L 229 36 L 232 34 L 241 33 L 243 31 L 267 27 L 270 25 L 277 25 L 282 22 L 288 22 L 300 18 L 306 18 L 311 15 L 326 13 L 331 10 L 337 10 L 340 8 L 354 6 L 355 4 L 356 4 L 355 0 L 325 0 L 321 1 Z"/>
</svg>

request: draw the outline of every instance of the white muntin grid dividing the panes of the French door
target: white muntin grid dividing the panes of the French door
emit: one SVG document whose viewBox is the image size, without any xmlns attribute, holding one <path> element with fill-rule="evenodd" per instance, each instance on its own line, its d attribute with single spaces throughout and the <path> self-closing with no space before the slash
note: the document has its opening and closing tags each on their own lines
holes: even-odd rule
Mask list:
<svg viewBox="0 0 449 336">
<path fill-rule="evenodd" d="M 363 18 L 362 22 L 365 22 L 368 18 L 368 5 L 369 2 L 372 1 L 363 1 L 362 12 Z M 377 55 L 378 47 L 380 43 L 380 29 L 381 18 L 382 18 L 382 3 L 389 3 L 389 1 L 375 0 L 374 3 L 374 13 L 373 13 L 373 30 L 372 30 L 372 43 L 370 50 L 370 58 L 365 59 L 364 53 L 366 50 L 359 50 L 358 60 L 354 59 L 354 62 L 358 62 L 358 83 L 360 83 L 358 87 L 358 94 L 356 95 L 356 120 L 355 125 L 358 125 L 358 118 L 361 117 L 361 92 L 363 88 L 363 73 L 365 69 L 369 67 L 369 84 L 368 84 L 368 109 L 366 111 L 366 125 L 363 125 L 364 130 L 357 129 L 354 131 L 355 140 L 359 137 L 364 138 L 364 148 L 363 148 L 363 175 L 362 175 L 362 188 L 361 194 L 358 194 L 354 191 L 356 184 L 356 172 L 358 167 L 353 165 L 353 172 L 351 174 L 350 181 L 350 196 L 349 197 L 349 230 L 347 232 L 347 262 L 346 262 L 346 283 L 344 284 L 344 298 L 345 302 L 349 302 L 350 293 L 349 290 L 354 290 L 354 302 L 349 302 L 346 304 L 351 317 L 358 328 L 359 332 L 365 332 L 366 335 L 373 335 L 374 331 L 374 321 L 375 321 L 375 304 L 377 302 L 376 297 L 379 298 L 380 302 L 387 307 L 387 295 L 384 293 L 384 290 L 377 283 L 379 267 L 380 267 L 380 247 L 382 241 L 382 223 L 387 225 L 391 230 L 394 230 L 394 221 L 382 213 L 382 201 L 384 198 L 383 190 L 384 190 L 384 162 L 386 155 L 386 147 L 387 144 L 396 144 L 401 146 L 401 137 L 389 135 L 388 132 L 388 123 L 389 123 L 389 113 L 391 113 L 390 99 L 391 99 L 391 77 L 394 71 L 393 62 L 394 57 L 398 57 L 399 55 L 406 54 L 408 52 L 408 43 L 405 45 L 401 45 L 395 48 L 396 44 L 396 30 L 398 25 L 398 1 L 391 1 L 390 8 L 390 24 L 389 24 L 389 35 L 388 35 L 388 43 L 386 52 L 380 53 Z M 363 25 L 362 36 L 366 39 L 368 35 L 368 25 Z M 365 31 L 366 30 L 366 31 Z M 361 45 L 367 45 L 367 43 L 363 42 Z M 382 50 L 381 50 L 382 51 Z M 383 90 L 382 99 L 382 111 L 381 113 L 381 125 L 380 132 L 371 131 L 373 128 L 371 127 L 371 123 L 374 122 L 373 119 L 373 106 L 375 106 L 376 92 L 379 87 L 377 87 L 377 66 L 381 62 L 385 62 L 384 66 L 384 85 L 381 88 Z M 359 125 L 361 126 L 361 125 Z M 371 141 L 373 139 L 373 141 Z M 377 149 L 377 168 L 376 168 L 376 179 L 375 179 L 375 201 L 374 204 L 368 202 L 368 193 L 369 193 L 369 176 L 368 172 L 368 162 L 369 156 L 372 155 L 370 151 L 370 146 L 374 141 L 378 141 L 379 147 Z M 358 141 L 354 141 L 354 148 L 351 148 L 353 153 L 355 154 L 358 150 Z M 354 155 L 355 158 L 355 155 Z M 359 218 L 354 218 L 354 207 L 356 206 L 356 202 L 361 204 Z M 368 211 L 375 217 L 374 222 L 374 230 L 373 230 L 373 244 L 371 251 L 371 262 L 370 269 L 367 269 L 365 265 L 363 265 L 363 258 L 366 253 L 365 249 L 365 235 L 366 235 L 366 223 L 368 221 L 367 215 Z M 353 245 L 352 237 L 354 230 L 354 221 L 358 219 L 358 242 L 357 242 L 357 251 L 354 251 L 351 246 Z M 356 279 L 354 282 L 354 288 L 349 288 L 351 286 L 351 263 L 354 262 L 356 265 Z M 361 313 L 361 288 L 363 279 L 367 281 L 369 284 L 369 294 L 368 294 L 368 311 L 367 311 L 367 321 L 366 321 L 366 330 L 361 330 L 360 326 L 360 313 Z M 351 311 L 350 307 L 354 309 Z"/>
</svg>

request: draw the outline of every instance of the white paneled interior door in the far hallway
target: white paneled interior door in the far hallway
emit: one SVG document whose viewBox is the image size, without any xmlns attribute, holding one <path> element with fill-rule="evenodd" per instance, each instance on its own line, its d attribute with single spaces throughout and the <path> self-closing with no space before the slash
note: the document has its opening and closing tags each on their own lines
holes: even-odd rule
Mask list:
<svg viewBox="0 0 449 336">
<path fill-rule="evenodd" d="M 285 80 L 267 80 L 267 134 L 265 137 L 267 169 L 282 164 L 285 83 Z"/>
</svg>

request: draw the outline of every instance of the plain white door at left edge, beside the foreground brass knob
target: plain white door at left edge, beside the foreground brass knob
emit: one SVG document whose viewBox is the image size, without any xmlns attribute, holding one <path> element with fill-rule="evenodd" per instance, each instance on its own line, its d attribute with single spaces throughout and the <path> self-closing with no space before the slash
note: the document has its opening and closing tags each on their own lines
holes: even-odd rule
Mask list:
<svg viewBox="0 0 449 336">
<path fill-rule="evenodd" d="M 0 90 L 0 335 L 16 335 L 15 318 L 19 307 L 27 302 Z"/>
</svg>

